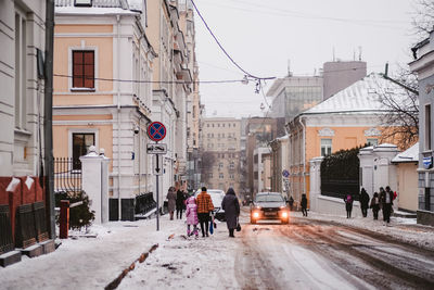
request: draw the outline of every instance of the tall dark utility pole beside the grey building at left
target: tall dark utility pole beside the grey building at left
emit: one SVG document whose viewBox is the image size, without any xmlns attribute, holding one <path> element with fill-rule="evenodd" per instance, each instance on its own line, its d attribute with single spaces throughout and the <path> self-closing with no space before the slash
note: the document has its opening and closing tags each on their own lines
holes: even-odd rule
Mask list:
<svg viewBox="0 0 434 290">
<path fill-rule="evenodd" d="M 55 239 L 54 220 L 54 164 L 53 164 L 53 49 L 54 49 L 54 0 L 46 0 L 46 65 L 43 100 L 43 159 L 46 209 L 50 216 L 50 238 Z"/>
</svg>

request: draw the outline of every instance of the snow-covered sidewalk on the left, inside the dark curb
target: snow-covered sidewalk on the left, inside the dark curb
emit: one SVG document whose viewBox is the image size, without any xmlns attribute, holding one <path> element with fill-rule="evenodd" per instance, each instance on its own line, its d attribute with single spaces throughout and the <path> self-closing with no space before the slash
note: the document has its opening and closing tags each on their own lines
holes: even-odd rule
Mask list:
<svg viewBox="0 0 434 290">
<path fill-rule="evenodd" d="M 155 218 L 92 226 L 95 238 L 62 240 L 53 253 L 0 268 L 0 288 L 103 289 L 153 244 L 184 232 L 183 222 L 162 216 L 158 232 Z"/>
</svg>

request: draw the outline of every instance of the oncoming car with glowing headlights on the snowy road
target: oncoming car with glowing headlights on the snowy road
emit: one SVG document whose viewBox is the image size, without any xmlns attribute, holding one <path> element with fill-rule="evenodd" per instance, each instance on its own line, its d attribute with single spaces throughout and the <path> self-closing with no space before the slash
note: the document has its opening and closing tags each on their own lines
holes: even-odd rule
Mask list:
<svg viewBox="0 0 434 290">
<path fill-rule="evenodd" d="M 251 224 L 261 219 L 280 219 L 290 223 L 290 209 L 279 192 L 259 192 L 251 204 Z"/>
</svg>

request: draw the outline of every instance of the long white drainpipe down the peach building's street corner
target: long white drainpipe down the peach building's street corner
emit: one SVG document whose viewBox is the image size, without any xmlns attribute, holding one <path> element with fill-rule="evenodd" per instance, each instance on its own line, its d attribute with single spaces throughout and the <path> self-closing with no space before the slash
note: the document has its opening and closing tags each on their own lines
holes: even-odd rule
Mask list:
<svg viewBox="0 0 434 290">
<path fill-rule="evenodd" d="M 116 63 L 117 63 L 117 76 L 119 77 L 119 66 L 120 66 L 120 15 L 116 15 L 117 25 L 117 39 L 116 39 Z M 118 196 L 118 220 L 120 220 L 122 215 L 122 204 L 120 204 L 120 84 L 117 83 L 117 196 Z"/>
</svg>

